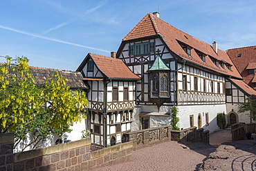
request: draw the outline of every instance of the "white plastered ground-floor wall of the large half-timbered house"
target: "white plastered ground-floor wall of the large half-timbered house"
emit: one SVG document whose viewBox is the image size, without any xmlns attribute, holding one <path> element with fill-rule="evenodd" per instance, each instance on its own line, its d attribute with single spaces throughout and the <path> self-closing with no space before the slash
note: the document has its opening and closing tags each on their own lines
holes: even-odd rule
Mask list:
<svg viewBox="0 0 256 171">
<path fill-rule="evenodd" d="M 226 104 L 221 105 L 179 105 L 178 106 L 179 128 L 190 128 L 190 115 L 194 114 L 194 126 L 198 126 L 198 115 L 201 114 L 202 127 L 210 133 L 219 130 L 217 125 L 217 113 L 226 113 Z M 209 125 L 205 126 L 205 112 L 208 112 Z"/>
</svg>

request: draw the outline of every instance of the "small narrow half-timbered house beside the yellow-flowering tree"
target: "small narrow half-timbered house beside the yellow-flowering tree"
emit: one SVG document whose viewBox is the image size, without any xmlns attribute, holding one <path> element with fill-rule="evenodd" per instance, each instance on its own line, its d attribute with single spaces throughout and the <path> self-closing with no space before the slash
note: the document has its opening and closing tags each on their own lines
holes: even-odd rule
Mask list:
<svg viewBox="0 0 256 171">
<path fill-rule="evenodd" d="M 136 101 L 136 76 L 125 63 L 112 57 L 89 53 L 77 68 L 90 91 L 88 121 L 92 143 L 114 145 L 131 131 Z"/>
</svg>

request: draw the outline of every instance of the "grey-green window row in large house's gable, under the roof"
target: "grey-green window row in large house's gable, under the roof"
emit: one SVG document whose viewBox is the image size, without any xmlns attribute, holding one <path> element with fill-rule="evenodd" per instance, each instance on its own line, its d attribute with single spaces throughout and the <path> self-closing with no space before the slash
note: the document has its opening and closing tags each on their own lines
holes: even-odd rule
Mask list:
<svg viewBox="0 0 256 171">
<path fill-rule="evenodd" d="M 129 55 L 150 54 L 155 51 L 155 42 L 136 43 L 129 46 Z"/>
</svg>

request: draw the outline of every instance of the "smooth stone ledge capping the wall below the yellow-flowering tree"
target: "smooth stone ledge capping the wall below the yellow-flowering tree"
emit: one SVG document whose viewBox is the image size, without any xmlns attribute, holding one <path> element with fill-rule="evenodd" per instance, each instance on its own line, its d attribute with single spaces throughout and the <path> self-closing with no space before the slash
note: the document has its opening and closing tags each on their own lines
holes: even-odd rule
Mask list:
<svg viewBox="0 0 256 171">
<path fill-rule="evenodd" d="M 82 139 L 78 141 L 71 141 L 69 143 L 62 143 L 59 145 L 52 145 L 46 148 L 38 148 L 35 150 L 29 150 L 25 152 L 19 152 L 15 154 L 15 163 L 19 161 L 26 161 L 28 159 L 35 159 L 44 155 L 54 154 L 57 152 L 64 152 L 74 148 L 80 148 L 86 145 L 91 145 L 91 139 Z"/>
</svg>

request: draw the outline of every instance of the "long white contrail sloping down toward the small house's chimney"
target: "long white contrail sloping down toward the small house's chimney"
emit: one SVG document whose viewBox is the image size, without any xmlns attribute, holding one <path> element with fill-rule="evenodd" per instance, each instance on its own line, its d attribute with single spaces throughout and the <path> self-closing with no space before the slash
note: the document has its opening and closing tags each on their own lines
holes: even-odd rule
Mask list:
<svg viewBox="0 0 256 171">
<path fill-rule="evenodd" d="M 55 41 L 55 42 L 64 43 L 64 44 L 67 44 L 67 45 L 72 45 L 72 46 L 77 46 L 77 47 L 82 47 L 82 48 L 88 48 L 88 49 L 92 49 L 92 50 L 99 50 L 99 51 L 102 51 L 102 52 L 110 53 L 107 50 L 102 50 L 102 49 L 98 49 L 98 48 L 92 48 L 90 46 L 84 46 L 84 45 L 80 45 L 80 44 L 77 44 L 77 43 L 71 43 L 71 42 L 68 42 L 68 41 L 62 41 L 62 40 L 54 39 L 54 38 L 51 38 L 51 37 L 44 37 L 44 36 L 40 36 L 40 35 L 37 35 L 37 34 L 33 34 L 33 33 L 29 33 L 29 32 L 24 32 L 24 31 L 21 31 L 21 30 L 17 30 L 17 29 L 14 29 L 14 28 L 8 28 L 6 26 L 1 26 L 0 25 L 0 28 L 3 28 L 5 30 L 10 30 L 12 32 L 19 32 L 21 34 L 26 34 L 26 35 L 32 36 L 32 37 L 38 37 L 38 38 L 41 38 L 41 39 L 46 39 L 46 40 L 49 40 L 49 41 Z"/>
</svg>

